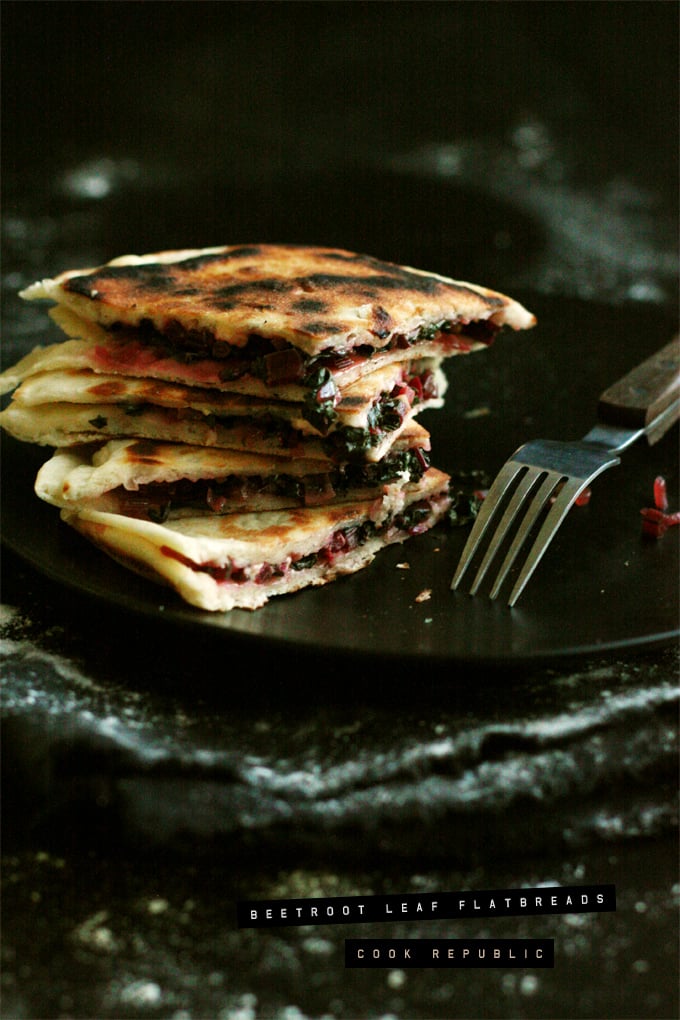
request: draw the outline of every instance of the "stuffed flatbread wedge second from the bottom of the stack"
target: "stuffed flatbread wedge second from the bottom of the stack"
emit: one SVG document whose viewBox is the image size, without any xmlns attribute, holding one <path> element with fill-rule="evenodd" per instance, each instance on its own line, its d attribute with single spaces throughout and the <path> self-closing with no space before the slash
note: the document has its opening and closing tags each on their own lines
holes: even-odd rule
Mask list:
<svg viewBox="0 0 680 1020">
<path fill-rule="evenodd" d="M 412 448 L 390 452 L 378 464 L 338 465 L 187 444 L 111 440 L 103 446 L 57 450 L 38 472 L 35 489 L 41 499 L 58 507 L 156 522 L 382 500 L 395 487 L 418 480 L 429 466 L 418 445 L 419 430 L 412 432 Z"/>
</svg>

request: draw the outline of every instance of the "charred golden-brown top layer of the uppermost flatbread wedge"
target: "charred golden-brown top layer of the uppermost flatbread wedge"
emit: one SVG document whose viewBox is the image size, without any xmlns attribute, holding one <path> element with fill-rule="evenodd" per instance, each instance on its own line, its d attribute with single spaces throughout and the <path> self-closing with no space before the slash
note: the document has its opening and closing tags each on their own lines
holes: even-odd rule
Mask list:
<svg viewBox="0 0 680 1020">
<path fill-rule="evenodd" d="M 432 327 L 477 339 L 534 324 L 504 294 L 369 255 L 301 245 L 247 245 L 124 255 L 22 292 L 106 327 L 134 326 L 192 350 L 208 337 L 262 338 L 308 355 L 408 345 Z"/>
</svg>

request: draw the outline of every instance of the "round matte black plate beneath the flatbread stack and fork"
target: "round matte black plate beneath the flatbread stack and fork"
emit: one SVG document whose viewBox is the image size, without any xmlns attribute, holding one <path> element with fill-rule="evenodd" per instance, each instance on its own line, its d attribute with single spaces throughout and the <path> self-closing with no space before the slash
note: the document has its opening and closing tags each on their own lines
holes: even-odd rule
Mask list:
<svg viewBox="0 0 680 1020">
<path fill-rule="evenodd" d="M 577 439 L 593 422 L 597 395 L 669 339 L 672 323 L 648 306 L 626 309 L 517 295 L 539 325 L 506 334 L 481 354 L 450 362 L 446 407 L 423 418 L 432 462 L 450 472 L 492 475 L 522 442 Z M 212 614 L 129 573 L 61 524 L 33 495 L 45 452 L 4 438 L 3 539 L 38 570 L 111 606 L 269 648 L 326 653 L 519 662 L 660 645 L 680 632 L 678 532 L 641 534 L 639 511 L 653 479 L 677 500 L 677 426 L 644 441 L 574 508 L 517 605 L 450 591 L 467 527 L 440 525 L 384 550 L 366 570 L 272 600 L 251 613 Z M 408 563 L 408 568 L 403 566 Z M 425 590 L 431 595 L 417 601 Z"/>
</svg>

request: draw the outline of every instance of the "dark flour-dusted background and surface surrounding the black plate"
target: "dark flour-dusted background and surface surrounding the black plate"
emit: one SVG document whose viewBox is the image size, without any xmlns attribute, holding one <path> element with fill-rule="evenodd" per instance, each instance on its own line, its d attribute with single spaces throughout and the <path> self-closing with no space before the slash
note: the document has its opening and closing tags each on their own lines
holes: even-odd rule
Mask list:
<svg viewBox="0 0 680 1020">
<path fill-rule="evenodd" d="M 510 413 L 506 367 L 518 429 L 557 427 L 541 408 L 561 388 L 580 427 L 677 322 L 676 4 L 0 12 L 3 363 L 57 339 L 16 296 L 41 275 L 258 241 L 525 298 L 574 353 L 523 378 L 531 421 Z M 493 468 L 508 450 L 489 421 Z M 658 456 L 676 496 L 674 444 Z M 677 557 L 668 540 L 659 556 Z M 4 1016 L 677 1016 L 673 643 L 505 667 L 281 658 L 140 619 L 11 550 L 3 621 Z M 615 882 L 618 910 L 464 930 L 234 921 L 240 898 L 542 882 Z M 362 935 L 554 937 L 556 967 L 346 972 L 343 938 Z"/>
</svg>

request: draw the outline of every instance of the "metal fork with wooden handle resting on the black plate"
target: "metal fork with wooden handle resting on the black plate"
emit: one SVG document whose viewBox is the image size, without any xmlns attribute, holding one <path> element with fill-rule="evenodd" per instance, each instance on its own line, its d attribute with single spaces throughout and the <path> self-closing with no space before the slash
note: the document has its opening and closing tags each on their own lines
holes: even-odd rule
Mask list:
<svg viewBox="0 0 680 1020">
<path fill-rule="evenodd" d="M 597 424 L 582 440 L 532 440 L 506 461 L 477 514 L 452 589 L 461 585 L 487 539 L 470 595 L 477 593 L 491 563 L 508 547 L 489 592 L 489 598 L 498 598 L 527 540 L 538 529 L 508 598 L 508 605 L 515 605 L 569 509 L 591 481 L 621 463 L 618 454 L 640 437 L 646 436 L 652 445 L 680 417 L 679 340 L 676 337 L 601 394 Z"/>
</svg>

